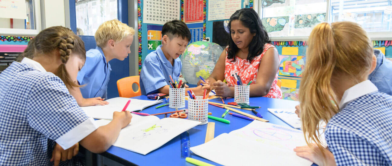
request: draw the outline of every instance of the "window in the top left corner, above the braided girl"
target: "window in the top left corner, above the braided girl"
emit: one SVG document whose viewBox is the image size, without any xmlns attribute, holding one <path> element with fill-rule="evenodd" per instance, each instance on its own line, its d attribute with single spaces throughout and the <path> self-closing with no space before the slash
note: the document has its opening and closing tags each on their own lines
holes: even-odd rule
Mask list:
<svg viewBox="0 0 392 166">
<path fill-rule="evenodd" d="M 0 31 L 2 34 L 38 34 L 41 28 L 39 0 L 0 0 L 0 6 Z"/>
</svg>

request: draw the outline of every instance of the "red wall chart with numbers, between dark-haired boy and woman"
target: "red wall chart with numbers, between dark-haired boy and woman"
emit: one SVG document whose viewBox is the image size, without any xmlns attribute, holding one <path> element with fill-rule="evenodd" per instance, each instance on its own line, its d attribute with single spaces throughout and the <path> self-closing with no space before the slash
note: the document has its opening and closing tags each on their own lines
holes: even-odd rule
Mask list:
<svg viewBox="0 0 392 166">
<path fill-rule="evenodd" d="M 203 21 L 203 0 L 184 0 L 184 22 Z"/>
</svg>

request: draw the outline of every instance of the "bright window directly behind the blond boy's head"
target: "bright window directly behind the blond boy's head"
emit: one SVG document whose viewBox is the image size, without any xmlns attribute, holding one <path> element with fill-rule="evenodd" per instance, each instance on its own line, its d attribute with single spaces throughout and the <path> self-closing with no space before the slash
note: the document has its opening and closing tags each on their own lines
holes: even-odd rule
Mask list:
<svg viewBox="0 0 392 166">
<path fill-rule="evenodd" d="M 117 18 L 117 0 L 76 0 L 76 33 L 94 36 L 101 23 Z"/>
</svg>

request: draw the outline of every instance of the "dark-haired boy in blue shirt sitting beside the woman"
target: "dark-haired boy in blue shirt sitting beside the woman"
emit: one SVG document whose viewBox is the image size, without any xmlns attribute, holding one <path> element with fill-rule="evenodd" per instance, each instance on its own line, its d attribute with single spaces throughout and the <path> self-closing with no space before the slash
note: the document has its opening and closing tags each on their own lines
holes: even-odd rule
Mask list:
<svg viewBox="0 0 392 166">
<path fill-rule="evenodd" d="M 169 81 L 171 80 L 169 76 L 173 80 L 178 80 L 182 68 L 178 57 L 185 51 L 189 41 L 191 41 L 191 32 L 184 22 L 172 20 L 163 25 L 162 45 L 148 54 L 142 65 L 140 89 L 143 95 L 169 94 Z M 204 89 L 209 91 L 210 87 L 198 86 L 185 90 L 192 90 L 196 96 L 203 96 Z"/>
</svg>

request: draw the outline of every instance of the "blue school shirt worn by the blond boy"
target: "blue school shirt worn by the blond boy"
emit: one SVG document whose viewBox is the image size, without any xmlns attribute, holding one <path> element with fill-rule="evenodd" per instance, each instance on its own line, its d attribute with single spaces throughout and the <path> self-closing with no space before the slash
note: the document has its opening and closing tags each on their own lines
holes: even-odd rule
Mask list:
<svg viewBox="0 0 392 166">
<path fill-rule="evenodd" d="M 106 63 L 101 47 L 90 49 L 86 52 L 86 62 L 78 72 L 78 82 L 83 98 L 102 97 L 107 99 L 107 83 L 111 67 Z"/>
</svg>

